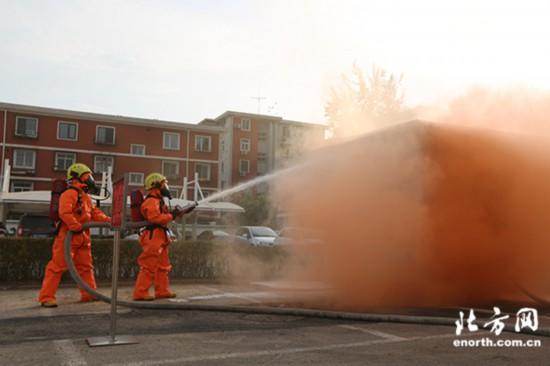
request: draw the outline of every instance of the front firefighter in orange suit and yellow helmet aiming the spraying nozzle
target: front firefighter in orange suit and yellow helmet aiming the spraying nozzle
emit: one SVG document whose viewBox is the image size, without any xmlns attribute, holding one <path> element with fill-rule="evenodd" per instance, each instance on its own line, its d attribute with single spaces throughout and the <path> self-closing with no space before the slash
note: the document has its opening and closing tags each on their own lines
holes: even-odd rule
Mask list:
<svg viewBox="0 0 550 366">
<path fill-rule="evenodd" d="M 170 211 L 163 200 L 164 197 L 172 198 L 168 180 L 160 173 L 151 173 L 145 178 L 145 189 L 148 194 L 141 204 L 140 211 L 149 225 L 142 230 L 139 237 L 143 252 L 138 257 L 139 274 L 133 294 L 136 301 L 176 297 L 168 288 L 168 273 L 172 269 L 168 258 L 168 245 L 172 239 L 167 225 L 196 207 L 193 205 L 181 210 L 177 206 Z M 155 287 L 155 296 L 149 295 L 151 285 Z"/>
</svg>

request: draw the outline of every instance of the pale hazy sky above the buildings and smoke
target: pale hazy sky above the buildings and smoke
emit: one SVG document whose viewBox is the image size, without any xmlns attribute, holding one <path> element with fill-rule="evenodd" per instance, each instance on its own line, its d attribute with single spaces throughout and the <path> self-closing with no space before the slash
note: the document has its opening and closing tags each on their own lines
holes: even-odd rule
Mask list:
<svg viewBox="0 0 550 366">
<path fill-rule="evenodd" d="M 481 3 L 481 4 L 479 4 Z M 550 88 L 549 1 L 0 0 L 0 100 L 198 122 L 225 110 L 323 121 L 353 62 L 408 103 L 471 85 Z"/>
</svg>

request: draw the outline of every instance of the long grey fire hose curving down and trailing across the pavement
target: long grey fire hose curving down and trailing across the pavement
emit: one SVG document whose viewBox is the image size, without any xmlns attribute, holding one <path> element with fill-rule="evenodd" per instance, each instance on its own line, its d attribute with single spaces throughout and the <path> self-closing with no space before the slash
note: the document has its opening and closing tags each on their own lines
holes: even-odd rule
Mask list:
<svg viewBox="0 0 550 366">
<path fill-rule="evenodd" d="M 147 222 L 132 223 L 134 227 L 147 225 Z M 87 222 L 82 225 L 83 229 L 91 227 L 110 228 L 110 223 L 105 222 Z M 106 303 L 111 303 L 111 298 L 105 296 L 95 289 L 91 288 L 82 280 L 71 256 L 71 239 L 73 233 L 67 232 L 64 243 L 65 260 L 71 277 L 77 285 L 88 292 L 92 297 Z M 435 317 L 435 316 L 413 316 L 399 314 L 376 314 L 376 313 L 351 313 L 330 310 L 316 310 L 304 308 L 278 308 L 273 306 L 245 306 L 245 305 L 205 305 L 205 304 L 188 304 L 188 303 L 150 303 L 150 302 L 134 302 L 134 301 L 116 301 L 117 305 L 125 306 L 134 309 L 155 309 L 155 310 L 194 310 L 194 311 L 212 311 L 212 312 L 231 312 L 231 313 L 246 313 L 246 314 L 263 314 L 263 315 L 286 315 L 300 317 L 314 317 L 337 320 L 355 320 L 366 322 L 382 322 L 382 323 L 402 323 L 402 324 L 420 324 L 420 325 L 446 325 L 456 326 L 456 319 Z M 504 331 L 515 332 L 511 325 L 505 325 Z M 550 328 L 538 328 L 529 334 L 550 337 Z"/>
</svg>

